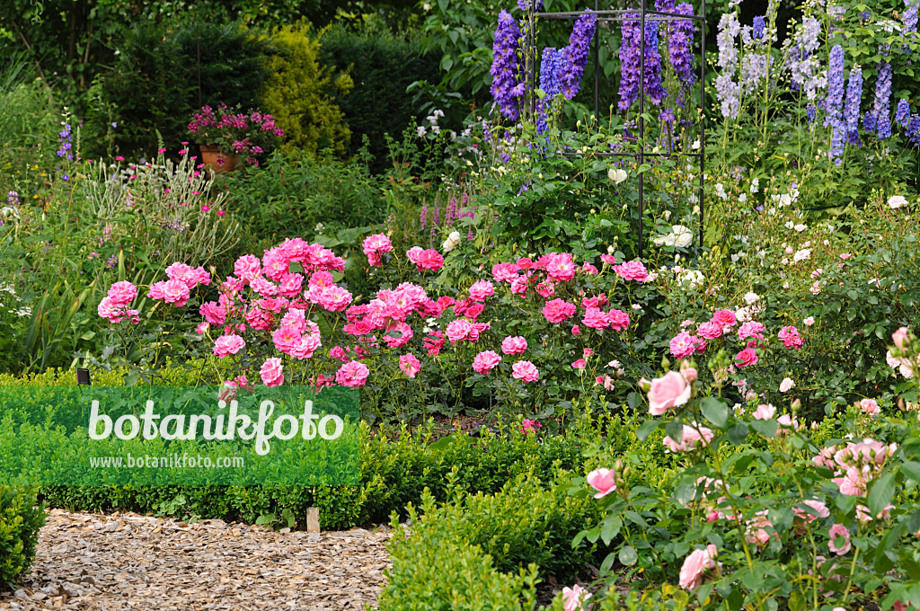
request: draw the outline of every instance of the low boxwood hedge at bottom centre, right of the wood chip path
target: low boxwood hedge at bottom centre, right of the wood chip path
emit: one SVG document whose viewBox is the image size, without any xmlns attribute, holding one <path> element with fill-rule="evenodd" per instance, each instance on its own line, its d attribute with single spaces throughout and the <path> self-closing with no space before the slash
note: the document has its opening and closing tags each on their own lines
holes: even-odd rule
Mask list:
<svg viewBox="0 0 920 611">
<path fill-rule="evenodd" d="M 567 579 L 587 566 L 595 551 L 584 541 L 571 545 L 572 536 L 595 519 L 594 503 L 576 500 L 564 489 L 545 489 L 530 473 L 498 493 L 458 494 L 441 506 L 426 492 L 422 515 L 409 510 L 411 536 L 401 534 L 394 521 L 393 568 L 380 608 L 518 608 L 521 603 L 533 608 L 536 567 Z M 451 563 L 447 569 L 445 560 Z"/>
</svg>

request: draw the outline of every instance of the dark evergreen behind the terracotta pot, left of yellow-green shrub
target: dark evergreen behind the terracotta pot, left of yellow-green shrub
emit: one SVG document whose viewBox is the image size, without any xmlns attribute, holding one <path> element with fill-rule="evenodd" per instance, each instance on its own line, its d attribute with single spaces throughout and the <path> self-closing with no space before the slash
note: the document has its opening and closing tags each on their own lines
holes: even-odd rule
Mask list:
<svg viewBox="0 0 920 611">
<path fill-rule="evenodd" d="M 103 103 L 118 118 L 121 153 L 149 156 L 157 131 L 175 152 L 190 140 L 188 122 L 202 105 L 258 107 L 269 75 L 268 44 L 236 24 L 207 20 L 130 30 L 102 80 Z"/>
</svg>

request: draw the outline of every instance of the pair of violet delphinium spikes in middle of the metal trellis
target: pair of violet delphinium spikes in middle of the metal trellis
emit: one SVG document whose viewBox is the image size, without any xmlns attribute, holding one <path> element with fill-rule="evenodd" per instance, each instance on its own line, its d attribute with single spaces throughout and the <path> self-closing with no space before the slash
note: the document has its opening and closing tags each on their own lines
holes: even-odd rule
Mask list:
<svg viewBox="0 0 920 611">
<path fill-rule="evenodd" d="M 652 104 L 661 104 L 667 92 L 661 84 L 661 55 L 658 52 L 658 27 L 657 21 L 647 21 L 645 24 L 645 48 L 642 49 L 641 22 L 638 15 L 630 13 L 620 26 L 623 42 L 620 46 L 620 75 L 619 96 L 617 103 L 619 110 L 627 110 L 638 99 L 639 79 L 644 79 L 645 95 Z M 639 53 L 643 53 L 641 57 Z M 644 66 L 643 66 L 644 64 Z M 645 73 L 642 68 L 645 68 Z"/>
</svg>

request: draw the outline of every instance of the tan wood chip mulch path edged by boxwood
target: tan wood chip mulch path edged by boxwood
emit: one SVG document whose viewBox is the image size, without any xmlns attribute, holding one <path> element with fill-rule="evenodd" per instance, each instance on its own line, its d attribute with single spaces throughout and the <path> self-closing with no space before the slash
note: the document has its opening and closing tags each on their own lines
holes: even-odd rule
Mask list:
<svg viewBox="0 0 920 611">
<path fill-rule="evenodd" d="M 0 609 L 362 609 L 385 585 L 389 536 L 55 509 Z"/>
</svg>

